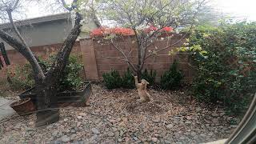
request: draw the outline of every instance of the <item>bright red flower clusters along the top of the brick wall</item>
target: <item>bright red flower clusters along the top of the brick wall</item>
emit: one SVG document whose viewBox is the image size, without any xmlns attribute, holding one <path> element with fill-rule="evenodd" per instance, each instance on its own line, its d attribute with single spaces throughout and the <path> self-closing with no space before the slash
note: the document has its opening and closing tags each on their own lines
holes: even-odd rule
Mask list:
<svg viewBox="0 0 256 144">
<path fill-rule="evenodd" d="M 156 31 L 158 30 L 157 27 L 155 26 L 150 26 L 146 28 L 144 33 L 150 33 L 150 31 Z M 171 32 L 174 29 L 172 27 L 164 27 L 162 28 L 162 32 Z M 130 28 L 122 28 L 122 27 L 116 27 L 116 28 L 108 28 L 108 27 L 100 27 L 98 29 L 94 29 L 90 32 L 90 37 L 100 37 L 106 34 L 120 34 L 120 35 L 134 35 L 134 30 Z"/>
</svg>

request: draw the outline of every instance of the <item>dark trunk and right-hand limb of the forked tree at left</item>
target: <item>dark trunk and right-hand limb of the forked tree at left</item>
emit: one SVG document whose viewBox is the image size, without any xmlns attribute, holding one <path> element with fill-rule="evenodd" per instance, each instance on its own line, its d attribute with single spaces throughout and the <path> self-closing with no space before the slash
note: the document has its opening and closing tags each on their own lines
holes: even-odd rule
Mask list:
<svg viewBox="0 0 256 144">
<path fill-rule="evenodd" d="M 59 86 L 59 80 L 62 77 L 62 71 L 66 67 L 70 52 L 74 46 L 74 42 L 80 34 L 82 25 L 75 24 L 73 30 L 66 38 L 62 45 L 62 50 L 58 51 L 57 57 L 50 67 L 50 70 L 46 73 L 46 78 L 43 82 L 38 82 L 36 86 L 37 91 L 37 121 L 36 126 L 45 126 L 50 123 L 58 122 L 59 112 L 58 110 L 49 110 L 57 107 L 57 90 Z"/>
</svg>

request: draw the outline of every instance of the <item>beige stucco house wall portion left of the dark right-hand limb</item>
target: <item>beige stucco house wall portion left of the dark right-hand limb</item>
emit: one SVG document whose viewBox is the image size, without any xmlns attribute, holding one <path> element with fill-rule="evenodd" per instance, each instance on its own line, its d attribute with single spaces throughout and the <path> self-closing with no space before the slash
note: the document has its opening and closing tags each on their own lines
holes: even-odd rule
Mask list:
<svg viewBox="0 0 256 144">
<path fill-rule="evenodd" d="M 72 28 L 70 20 L 61 19 L 50 22 L 41 22 L 30 24 L 28 26 L 19 26 L 18 30 L 22 34 L 29 46 L 44 46 L 55 43 L 62 43 Z M 7 30 L 8 34 L 17 38 L 13 30 Z M 2 41 L 0 39 L 0 41 Z M 5 44 L 6 50 L 13 48 Z"/>
</svg>

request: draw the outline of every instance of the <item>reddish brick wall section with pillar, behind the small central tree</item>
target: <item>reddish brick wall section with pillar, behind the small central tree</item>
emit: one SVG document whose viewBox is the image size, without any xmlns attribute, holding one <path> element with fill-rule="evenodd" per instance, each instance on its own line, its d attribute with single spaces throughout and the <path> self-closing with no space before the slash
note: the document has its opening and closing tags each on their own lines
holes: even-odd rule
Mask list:
<svg viewBox="0 0 256 144">
<path fill-rule="evenodd" d="M 156 50 L 157 47 L 161 49 L 162 47 L 169 46 L 170 43 L 174 44 L 178 42 L 182 36 L 177 35 L 168 41 L 159 40 L 154 42 L 150 46 L 149 50 Z M 98 80 L 102 79 L 102 74 L 109 72 L 111 69 L 118 70 L 120 74 L 123 74 L 127 69 L 126 62 L 120 60 L 122 54 L 118 52 L 112 45 L 102 45 L 98 43 L 98 39 L 83 39 L 81 42 L 82 55 L 84 55 L 86 78 Z M 115 42 L 126 55 L 130 61 L 136 64 L 138 60 L 138 50 L 136 49 L 136 44 L 133 43 L 133 38 L 126 37 L 124 39 L 119 39 Z M 177 59 L 179 62 L 179 67 L 185 74 L 185 80 L 190 81 L 193 75 L 193 70 L 191 70 L 190 65 L 188 65 L 188 56 L 186 54 L 175 54 L 169 55 L 168 52 L 174 47 L 182 46 L 182 42 L 178 42 L 173 47 L 161 51 L 157 56 L 153 56 L 146 59 L 145 68 L 147 70 L 157 70 L 157 81 L 159 81 L 160 76 L 170 68 L 170 65 Z M 84 62 L 85 62 L 84 61 Z M 93 74 L 92 76 L 88 74 Z"/>
</svg>

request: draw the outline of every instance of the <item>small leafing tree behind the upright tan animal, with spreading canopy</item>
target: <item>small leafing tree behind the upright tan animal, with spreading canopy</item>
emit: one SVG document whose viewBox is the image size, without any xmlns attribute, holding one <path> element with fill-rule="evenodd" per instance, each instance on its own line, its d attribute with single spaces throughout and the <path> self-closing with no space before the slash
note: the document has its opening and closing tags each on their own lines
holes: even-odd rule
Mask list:
<svg viewBox="0 0 256 144">
<path fill-rule="evenodd" d="M 134 42 L 137 44 L 138 62 L 134 65 L 114 39 L 121 37 L 115 34 L 106 34 L 98 42 L 108 42 L 122 55 L 123 61 L 141 79 L 142 69 L 147 58 L 167 50 L 186 38 L 188 31 L 198 24 L 198 15 L 205 6 L 205 0 L 100 0 L 91 1 L 90 9 L 102 21 L 111 22 L 113 26 L 122 26 L 134 31 Z M 154 29 L 150 29 L 153 26 Z M 174 33 L 166 33 L 166 46 L 149 47 L 159 40 L 166 27 L 174 30 L 187 28 L 187 32 L 177 42 L 171 42 Z"/>
</svg>

